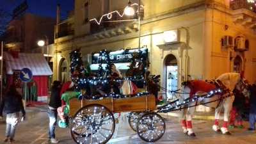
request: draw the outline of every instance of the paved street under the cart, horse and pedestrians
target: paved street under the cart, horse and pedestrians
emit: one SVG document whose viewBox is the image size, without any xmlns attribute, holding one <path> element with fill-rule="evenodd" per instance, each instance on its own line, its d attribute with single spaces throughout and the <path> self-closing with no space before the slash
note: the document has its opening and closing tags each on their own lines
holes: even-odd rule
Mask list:
<svg viewBox="0 0 256 144">
<path fill-rule="evenodd" d="M 16 143 L 26 143 L 26 144 L 46 144 L 47 141 L 47 124 L 48 118 L 45 113 L 45 108 L 28 108 L 28 119 L 26 122 L 19 124 L 16 135 Z M 166 116 L 166 115 L 163 115 Z M 231 136 L 224 136 L 221 134 L 216 134 L 211 130 L 212 120 L 195 120 L 194 127 L 196 132 L 196 138 L 189 138 L 184 136 L 180 129 L 178 119 L 176 117 L 168 116 L 166 120 L 166 132 L 161 138 L 161 140 L 156 143 L 175 143 L 175 144 L 190 144 L 190 143 L 218 143 L 218 144 L 247 144 L 256 143 L 256 133 L 248 132 L 246 129 L 232 129 Z M 246 123 L 246 127 L 248 124 Z M 0 139 L 4 140 L 4 129 L 5 125 L 3 122 L 0 123 Z M 56 130 L 56 137 L 60 139 L 61 144 L 74 143 L 69 134 L 69 129 Z M 140 140 L 135 132 L 133 132 L 127 123 L 127 118 L 123 116 L 120 118 L 119 124 L 116 124 L 115 134 L 109 143 L 117 144 L 122 142 L 122 144 L 128 143 L 145 143 Z M 4 142 L 0 142 L 4 143 Z"/>
</svg>

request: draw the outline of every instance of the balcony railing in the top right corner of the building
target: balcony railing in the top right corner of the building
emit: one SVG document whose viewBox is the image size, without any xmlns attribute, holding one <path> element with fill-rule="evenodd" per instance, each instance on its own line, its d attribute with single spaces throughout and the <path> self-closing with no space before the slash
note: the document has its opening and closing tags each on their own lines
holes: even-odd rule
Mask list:
<svg viewBox="0 0 256 144">
<path fill-rule="evenodd" d="M 237 9 L 247 9 L 251 10 L 252 12 L 256 12 L 256 6 L 253 1 L 248 1 L 248 0 L 233 0 L 230 1 L 230 8 L 232 10 L 237 10 Z"/>
</svg>

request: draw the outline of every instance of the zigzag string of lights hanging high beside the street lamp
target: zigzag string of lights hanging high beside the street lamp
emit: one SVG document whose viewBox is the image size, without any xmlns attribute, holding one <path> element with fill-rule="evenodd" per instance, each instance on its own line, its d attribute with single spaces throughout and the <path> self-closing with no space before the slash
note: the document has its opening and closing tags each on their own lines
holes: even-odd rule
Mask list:
<svg viewBox="0 0 256 144">
<path fill-rule="evenodd" d="M 138 3 L 133 3 L 133 4 L 131 4 L 131 6 L 134 6 L 134 5 L 138 6 L 139 4 L 138 4 Z M 143 5 L 140 5 L 140 6 L 141 6 L 141 8 L 144 8 Z M 137 10 L 136 12 L 138 13 L 139 10 Z M 117 14 L 119 17 L 124 17 L 124 14 L 125 14 L 125 13 L 124 13 L 124 12 L 123 12 L 123 13 L 120 13 L 120 12 L 118 12 L 117 10 L 115 10 L 115 11 L 113 11 L 113 12 L 109 12 L 109 13 L 106 13 L 106 14 L 102 15 L 99 20 L 97 20 L 96 18 L 94 18 L 94 19 L 90 19 L 90 21 L 95 21 L 98 25 L 100 25 L 101 22 L 102 22 L 102 20 L 104 19 L 104 17 L 107 17 L 107 18 L 110 20 L 110 19 L 112 19 L 113 14 Z"/>
</svg>

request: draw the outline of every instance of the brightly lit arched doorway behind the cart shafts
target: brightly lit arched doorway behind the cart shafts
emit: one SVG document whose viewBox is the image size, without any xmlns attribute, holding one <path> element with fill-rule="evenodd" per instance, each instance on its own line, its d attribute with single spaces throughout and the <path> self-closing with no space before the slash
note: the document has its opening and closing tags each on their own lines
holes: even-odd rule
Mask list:
<svg viewBox="0 0 256 144">
<path fill-rule="evenodd" d="M 169 54 L 165 58 L 164 69 L 166 71 L 166 89 L 177 90 L 178 89 L 178 63 L 173 54 Z M 172 99 L 172 93 L 166 92 L 167 98 Z"/>
</svg>

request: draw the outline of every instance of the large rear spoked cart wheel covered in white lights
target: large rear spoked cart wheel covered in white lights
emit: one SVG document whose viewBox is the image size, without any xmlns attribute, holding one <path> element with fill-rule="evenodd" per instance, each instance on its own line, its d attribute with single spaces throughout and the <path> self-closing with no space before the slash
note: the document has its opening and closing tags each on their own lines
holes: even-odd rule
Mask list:
<svg viewBox="0 0 256 144">
<path fill-rule="evenodd" d="M 115 118 L 108 108 L 90 104 L 77 111 L 70 122 L 76 143 L 107 143 L 115 131 Z"/>
</svg>

